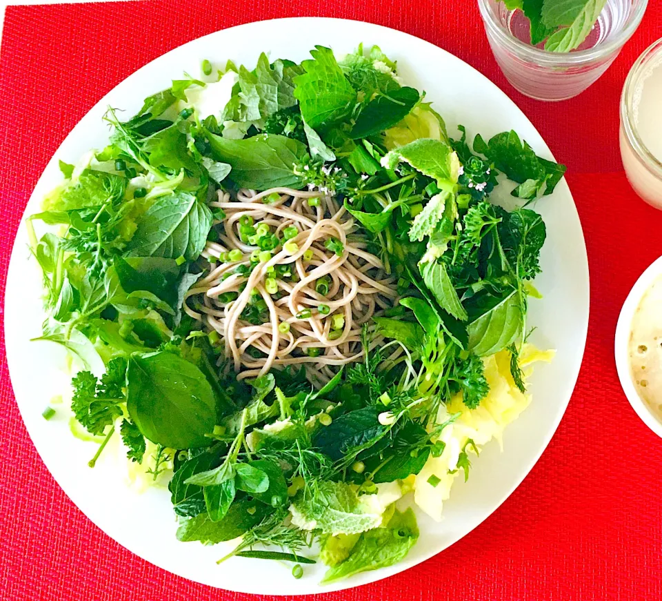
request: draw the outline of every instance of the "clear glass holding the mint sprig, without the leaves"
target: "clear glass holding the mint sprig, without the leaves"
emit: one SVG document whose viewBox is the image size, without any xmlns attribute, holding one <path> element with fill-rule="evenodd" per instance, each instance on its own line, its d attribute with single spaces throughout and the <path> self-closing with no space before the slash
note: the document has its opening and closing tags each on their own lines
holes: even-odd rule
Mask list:
<svg viewBox="0 0 662 601">
<path fill-rule="evenodd" d="M 571 52 L 532 46 L 521 10 L 508 10 L 498 0 L 478 3 L 503 75 L 526 96 L 558 101 L 583 92 L 607 70 L 639 27 L 648 0 L 607 0 L 588 38 Z"/>
</svg>

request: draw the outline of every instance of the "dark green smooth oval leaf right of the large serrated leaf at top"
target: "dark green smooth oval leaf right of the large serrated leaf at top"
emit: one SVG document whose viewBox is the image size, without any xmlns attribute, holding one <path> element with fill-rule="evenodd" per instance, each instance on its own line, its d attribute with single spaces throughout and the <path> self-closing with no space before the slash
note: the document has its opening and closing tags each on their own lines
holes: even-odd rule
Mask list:
<svg viewBox="0 0 662 601">
<path fill-rule="evenodd" d="M 379 94 L 359 113 L 352 128 L 352 139 L 377 135 L 398 124 L 409 115 L 419 98 L 419 92 L 414 88 L 398 88 Z"/>
</svg>

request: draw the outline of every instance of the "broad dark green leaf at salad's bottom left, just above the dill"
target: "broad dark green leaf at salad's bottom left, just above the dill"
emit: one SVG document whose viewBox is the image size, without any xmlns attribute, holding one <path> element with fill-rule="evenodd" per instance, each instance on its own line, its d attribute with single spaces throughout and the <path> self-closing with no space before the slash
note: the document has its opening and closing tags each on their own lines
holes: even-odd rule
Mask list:
<svg viewBox="0 0 662 601">
<path fill-rule="evenodd" d="M 225 518 L 219 522 L 212 521 L 206 513 L 182 522 L 177 529 L 177 540 L 199 540 L 205 544 L 232 540 L 259 524 L 269 511 L 270 508 L 263 503 L 241 499 L 232 503 Z"/>
</svg>

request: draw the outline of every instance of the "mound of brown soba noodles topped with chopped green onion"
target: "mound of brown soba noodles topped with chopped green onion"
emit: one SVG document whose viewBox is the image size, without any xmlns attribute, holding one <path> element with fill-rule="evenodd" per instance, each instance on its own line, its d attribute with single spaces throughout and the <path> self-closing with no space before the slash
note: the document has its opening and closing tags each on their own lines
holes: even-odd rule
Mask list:
<svg viewBox="0 0 662 601">
<path fill-rule="evenodd" d="M 310 199 L 316 201 L 309 204 Z M 236 199 L 219 191 L 210 206 L 224 213 L 215 221 L 219 242 L 208 242 L 203 257 L 209 273 L 188 291 L 184 308 L 208 331 L 219 333 L 224 357 L 238 377 L 303 364 L 310 380 L 325 382 L 337 366 L 359 359 L 361 326 L 392 306 L 397 290 L 379 257 L 352 235 L 356 226 L 345 208 L 321 191 L 290 188 L 240 190 Z M 258 257 L 259 246 L 251 244 L 256 240 L 241 235 L 241 224 L 263 233 L 268 226 L 281 244 L 272 256 Z M 283 245 L 285 228 L 292 237 Z M 331 239 L 335 246 L 328 248 Z M 239 260 L 228 260 L 232 250 L 241 251 Z M 219 263 L 221 256 L 226 260 Z M 283 273 L 277 266 L 290 270 Z M 316 289 L 320 281 L 325 294 Z M 197 299 L 194 308 L 191 297 Z M 255 323 L 245 311 L 259 298 L 265 318 Z"/>
</svg>

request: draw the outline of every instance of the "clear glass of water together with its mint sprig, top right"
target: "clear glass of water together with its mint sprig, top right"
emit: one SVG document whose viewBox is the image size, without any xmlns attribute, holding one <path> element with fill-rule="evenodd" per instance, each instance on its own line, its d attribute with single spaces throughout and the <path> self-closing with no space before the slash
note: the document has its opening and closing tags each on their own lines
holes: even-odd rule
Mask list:
<svg viewBox="0 0 662 601">
<path fill-rule="evenodd" d="M 558 101 L 583 92 L 619 55 L 648 0 L 479 0 L 485 32 L 517 90 Z"/>
</svg>

